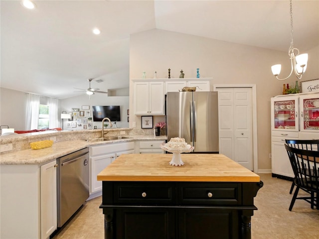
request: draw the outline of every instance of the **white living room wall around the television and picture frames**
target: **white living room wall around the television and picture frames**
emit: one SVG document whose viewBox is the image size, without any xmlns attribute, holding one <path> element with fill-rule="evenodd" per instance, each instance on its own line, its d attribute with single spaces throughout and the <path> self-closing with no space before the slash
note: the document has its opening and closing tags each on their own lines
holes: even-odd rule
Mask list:
<svg viewBox="0 0 319 239">
<path fill-rule="evenodd" d="M 121 110 L 121 121 L 118 121 L 116 124 L 119 128 L 129 127 L 127 110 L 129 109 L 129 97 L 128 96 L 112 96 L 109 97 L 106 94 L 98 94 L 92 95 L 89 99 L 89 96 L 83 94 L 81 96 L 72 97 L 64 100 L 60 100 L 60 111 L 66 111 L 67 113 L 72 111 L 72 108 L 79 108 L 80 111 L 82 106 L 90 106 L 91 116 L 92 115 L 92 106 L 120 106 Z M 61 120 L 61 119 L 60 119 Z M 83 129 L 83 124 L 81 126 L 77 126 L 76 128 L 67 127 L 68 119 L 64 119 L 64 130 L 81 130 Z M 62 122 L 62 120 L 61 120 Z M 101 122 L 93 122 L 93 127 L 97 126 L 97 128 L 102 127 Z"/>
</svg>

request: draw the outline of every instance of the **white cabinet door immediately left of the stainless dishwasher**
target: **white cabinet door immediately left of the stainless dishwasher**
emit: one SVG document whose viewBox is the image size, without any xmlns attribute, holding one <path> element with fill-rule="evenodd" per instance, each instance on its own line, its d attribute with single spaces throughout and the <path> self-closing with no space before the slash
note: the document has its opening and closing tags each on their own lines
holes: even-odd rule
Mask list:
<svg viewBox="0 0 319 239">
<path fill-rule="evenodd" d="M 57 229 L 57 164 L 56 160 L 40 167 L 41 239 L 49 238 Z"/>
</svg>

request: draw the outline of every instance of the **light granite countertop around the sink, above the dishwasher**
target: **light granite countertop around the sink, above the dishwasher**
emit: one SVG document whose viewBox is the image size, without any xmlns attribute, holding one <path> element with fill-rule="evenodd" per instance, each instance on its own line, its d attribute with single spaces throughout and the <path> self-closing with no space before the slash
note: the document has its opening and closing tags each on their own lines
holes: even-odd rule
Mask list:
<svg viewBox="0 0 319 239">
<path fill-rule="evenodd" d="M 1 154 L 0 164 L 43 164 L 49 162 L 58 157 L 64 156 L 66 154 L 75 152 L 82 148 L 127 142 L 127 141 L 137 141 L 137 140 L 165 140 L 166 136 L 153 136 L 153 135 L 129 135 L 132 138 L 108 140 L 100 142 L 87 142 L 85 140 L 68 140 L 62 142 L 55 142 L 51 147 L 42 149 L 24 149 L 16 152 Z"/>
</svg>

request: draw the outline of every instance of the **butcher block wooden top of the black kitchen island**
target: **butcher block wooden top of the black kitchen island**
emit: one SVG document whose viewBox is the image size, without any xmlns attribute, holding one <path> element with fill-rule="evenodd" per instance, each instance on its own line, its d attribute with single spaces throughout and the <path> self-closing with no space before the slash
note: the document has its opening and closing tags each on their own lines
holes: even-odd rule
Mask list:
<svg viewBox="0 0 319 239">
<path fill-rule="evenodd" d="M 172 154 L 122 154 L 101 171 L 98 181 L 260 182 L 260 177 L 223 154 L 182 154 L 185 165 L 171 166 Z"/>
</svg>

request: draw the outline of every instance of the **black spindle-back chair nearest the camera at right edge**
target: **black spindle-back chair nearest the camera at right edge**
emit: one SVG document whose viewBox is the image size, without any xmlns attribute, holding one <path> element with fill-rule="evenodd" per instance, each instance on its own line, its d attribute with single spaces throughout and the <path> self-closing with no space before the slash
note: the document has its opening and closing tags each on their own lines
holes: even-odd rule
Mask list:
<svg viewBox="0 0 319 239">
<path fill-rule="evenodd" d="M 290 163 L 295 174 L 296 190 L 291 200 L 289 211 L 293 209 L 296 199 L 302 199 L 319 209 L 319 151 L 305 150 L 285 144 Z M 297 197 L 299 190 L 310 194 L 310 197 Z"/>
</svg>

